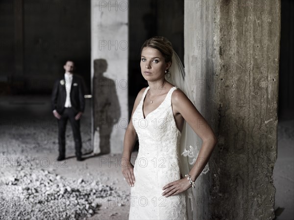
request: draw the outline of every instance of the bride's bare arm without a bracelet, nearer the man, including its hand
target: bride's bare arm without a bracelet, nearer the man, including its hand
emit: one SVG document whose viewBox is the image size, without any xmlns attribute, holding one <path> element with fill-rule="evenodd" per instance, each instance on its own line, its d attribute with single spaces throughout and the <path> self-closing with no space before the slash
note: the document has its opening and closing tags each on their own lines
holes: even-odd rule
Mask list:
<svg viewBox="0 0 294 220">
<path fill-rule="evenodd" d="M 133 118 L 134 111 L 137 109 L 142 99 L 145 89 L 146 88 L 141 89 L 141 91 L 137 95 L 137 98 L 134 103 L 131 119 L 126 128 L 126 131 L 124 134 L 124 140 L 123 140 L 122 173 L 125 180 L 130 186 L 134 186 L 134 183 L 135 183 L 135 176 L 133 171 L 134 166 L 131 163 L 131 155 L 132 155 L 132 151 L 137 139 L 137 133 L 134 129 L 132 118 Z"/>
</svg>

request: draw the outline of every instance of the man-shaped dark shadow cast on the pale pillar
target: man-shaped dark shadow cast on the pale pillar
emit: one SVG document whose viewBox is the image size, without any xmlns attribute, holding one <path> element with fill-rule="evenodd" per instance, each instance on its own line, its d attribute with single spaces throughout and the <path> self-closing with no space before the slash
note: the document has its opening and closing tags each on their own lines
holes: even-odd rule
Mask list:
<svg viewBox="0 0 294 220">
<path fill-rule="evenodd" d="M 94 154 L 110 153 L 110 135 L 113 126 L 121 117 L 116 84 L 114 80 L 103 76 L 107 66 L 104 59 L 94 60 Z"/>
</svg>

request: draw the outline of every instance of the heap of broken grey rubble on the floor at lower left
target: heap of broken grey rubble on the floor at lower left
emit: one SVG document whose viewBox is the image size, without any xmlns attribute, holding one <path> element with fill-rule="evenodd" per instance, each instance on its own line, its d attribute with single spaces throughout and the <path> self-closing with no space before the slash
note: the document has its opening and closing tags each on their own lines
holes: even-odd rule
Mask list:
<svg viewBox="0 0 294 220">
<path fill-rule="evenodd" d="M 30 167 L 18 167 L 16 175 L 1 182 L 0 193 L 1 220 L 83 220 L 97 213 L 98 198 L 128 196 L 98 181 L 64 178 Z"/>
</svg>

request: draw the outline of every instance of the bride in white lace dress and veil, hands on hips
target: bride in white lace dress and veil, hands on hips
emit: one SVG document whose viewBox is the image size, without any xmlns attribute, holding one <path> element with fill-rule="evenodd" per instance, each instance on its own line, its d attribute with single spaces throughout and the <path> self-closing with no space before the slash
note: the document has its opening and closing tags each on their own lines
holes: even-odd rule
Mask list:
<svg viewBox="0 0 294 220">
<path fill-rule="evenodd" d="M 148 39 L 140 66 L 149 86 L 135 100 L 122 155 L 122 173 L 131 187 L 129 219 L 192 219 L 192 188 L 201 172 L 208 172 L 217 138 L 193 104 L 183 66 L 168 39 Z"/>
</svg>

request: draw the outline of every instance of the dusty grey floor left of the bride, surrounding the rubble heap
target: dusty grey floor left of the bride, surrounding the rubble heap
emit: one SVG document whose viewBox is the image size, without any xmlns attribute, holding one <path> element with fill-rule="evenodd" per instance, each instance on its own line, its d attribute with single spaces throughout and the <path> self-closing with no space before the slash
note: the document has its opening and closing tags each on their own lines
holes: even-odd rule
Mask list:
<svg viewBox="0 0 294 220">
<path fill-rule="evenodd" d="M 18 209 L 17 205 L 26 205 L 21 196 L 19 196 L 21 202 L 18 203 L 16 202 L 19 199 L 18 196 L 12 194 L 13 191 L 24 186 L 6 185 L 20 173 L 20 168 L 22 172 L 30 169 L 32 173 L 46 170 L 49 174 L 62 176 L 68 183 L 82 178 L 89 183 L 96 181 L 113 188 L 112 196 L 92 198 L 98 205 L 97 214 L 86 219 L 128 219 L 129 203 L 125 197 L 129 196 L 129 186 L 121 173 L 121 155 L 91 154 L 90 102 L 87 102 L 86 112 L 81 120 L 84 161 L 77 161 L 74 156 L 73 135 L 69 123 L 66 133 L 67 159 L 62 162 L 56 161 L 57 125 L 50 112 L 49 97 L 18 97 L 17 99 L 1 97 L 0 110 L 1 208 L 4 208 L 4 205 L 7 208 L 9 205 L 10 210 L 7 213 L 14 213 Z M 76 186 L 76 188 L 79 187 Z M 15 218 L 15 216 L 9 218 L 2 214 L 3 209 L 1 209 L 0 219 Z M 34 219 L 31 218 L 33 216 L 36 215 L 23 215 L 20 219 Z"/>
</svg>

